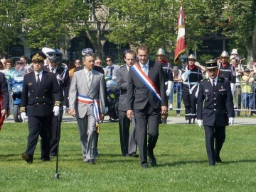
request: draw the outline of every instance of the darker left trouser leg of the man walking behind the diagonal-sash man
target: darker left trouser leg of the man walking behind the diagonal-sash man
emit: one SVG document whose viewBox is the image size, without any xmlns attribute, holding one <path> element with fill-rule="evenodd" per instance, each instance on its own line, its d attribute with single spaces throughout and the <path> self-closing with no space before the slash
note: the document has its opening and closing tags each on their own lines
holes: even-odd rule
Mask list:
<svg viewBox="0 0 256 192">
<path fill-rule="evenodd" d="M 122 155 L 128 154 L 130 124 L 126 111 L 119 111 L 119 137 Z"/>
</svg>

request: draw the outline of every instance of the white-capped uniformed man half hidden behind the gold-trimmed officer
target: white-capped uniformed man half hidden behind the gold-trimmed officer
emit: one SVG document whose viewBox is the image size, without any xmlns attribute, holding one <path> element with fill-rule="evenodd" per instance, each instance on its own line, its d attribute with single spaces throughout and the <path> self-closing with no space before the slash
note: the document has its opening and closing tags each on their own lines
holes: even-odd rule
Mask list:
<svg viewBox="0 0 256 192">
<path fill-rule="evenodd" d="M 44 66 L 43 70 L 53 72 L 58 79 L 58 83 L 62 83 L 63 88 L 63 111 L 67 110 L 68 106 L 68 91 L 70 86 L 70 77 L 68 75 L 68 69 L 62 66 L 58 66 L 62 59 L 61 52 L 47 52 L 49 65 Z M 58 145 L 58 116 L 53 115 L 53 125 L 51 127 L 50 134 L 50 157 L 57 155 Z"/>
</svg>

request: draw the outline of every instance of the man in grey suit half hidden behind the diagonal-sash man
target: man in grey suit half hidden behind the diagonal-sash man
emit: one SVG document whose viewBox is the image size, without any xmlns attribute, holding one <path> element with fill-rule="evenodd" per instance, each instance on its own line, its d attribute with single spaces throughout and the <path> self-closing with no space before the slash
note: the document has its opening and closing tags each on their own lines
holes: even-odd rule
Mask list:
<svg viewBox="0 0 256 192">
<path fill-rule="evenodd" d="M 128 154 L 132 157 L 139 157 L 136 154 L 137 151 L 137 142 L 134 140 L 134 128 L 135 123 L 132 122 L 132 130 L 129 136 L 129 126 L 131 120 L 127 117 L 127 81 L 128 81 L 128 72 L 129 68 L 132 67 L 136 59 L 136 53 L 132 50 L 127 50 L 124 55 L 124 61 L 126 64 L 122 65 L 117 69 L 117 89 L 120 91 L 119 96 L 119 136 L 120 136 L 120 145 L 121 152 L 123 157 L 127 157 Z"/>
</svg>

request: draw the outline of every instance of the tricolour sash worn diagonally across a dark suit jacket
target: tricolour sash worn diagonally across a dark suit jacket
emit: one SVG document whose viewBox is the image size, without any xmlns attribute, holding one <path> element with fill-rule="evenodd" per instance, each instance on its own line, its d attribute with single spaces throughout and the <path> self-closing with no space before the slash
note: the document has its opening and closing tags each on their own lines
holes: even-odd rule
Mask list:
<svg viewBox="0 0 256 192">
<path fill-rule="evenodd" d="M 158 101 L 161 101 L 160 92 L 158 89 L 156 89 L 156 86 L 154 83 L 147 77 L 147 75 L 142 71 L 142 68 L 139 67 L 139 64 L 135 63 L 131 67 L 132 71 L 134 71 L 135 74 L 137 74 L 137 77 L 142 80 L 142 82 L 146 85 L 146 87 L 151 91 L 151 93 L 156 96 Z"/>
</svg>

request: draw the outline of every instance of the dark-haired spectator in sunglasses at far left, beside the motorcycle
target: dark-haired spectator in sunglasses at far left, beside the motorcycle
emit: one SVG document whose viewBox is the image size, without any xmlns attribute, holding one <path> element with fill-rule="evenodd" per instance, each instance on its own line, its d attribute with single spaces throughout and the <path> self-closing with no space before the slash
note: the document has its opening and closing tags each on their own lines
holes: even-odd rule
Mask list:
<svg viewBox="0 0 256 192">
<path fill-rule="evenodd" d="M 8 59 L 6 60 L 6 69 L 4 69 L 4 74 L 7 80 L 7 84 L 8 84 L 8 91 L 9 91 L 9 106 L 10 108 L 12 108 L 14 106 L 14 101 L 13 98 L 11 96 L 11 80 L 12 77 L 14 77 L 14 68 L 12 67 L 12 60 Z M 13 111 L 11 111 L 11 113 L 13 113 Z"/>
</svg>

